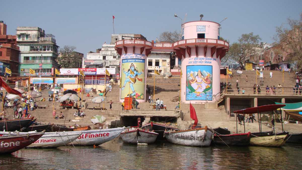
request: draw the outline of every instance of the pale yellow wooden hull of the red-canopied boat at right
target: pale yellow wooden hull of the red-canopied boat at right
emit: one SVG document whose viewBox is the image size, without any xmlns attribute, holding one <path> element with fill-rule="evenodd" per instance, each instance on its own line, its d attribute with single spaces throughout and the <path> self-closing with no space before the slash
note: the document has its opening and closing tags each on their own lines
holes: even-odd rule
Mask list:
<svg viewBox="0 0 302 170">
<path fill-rule="evenodd" d="M 250 145 L 255 146 L 283 146 L 287 139 L 287 134 L 284 135 L 265 135 L 265 136 L 252 136 L 249 142 Z"/>
</svg>

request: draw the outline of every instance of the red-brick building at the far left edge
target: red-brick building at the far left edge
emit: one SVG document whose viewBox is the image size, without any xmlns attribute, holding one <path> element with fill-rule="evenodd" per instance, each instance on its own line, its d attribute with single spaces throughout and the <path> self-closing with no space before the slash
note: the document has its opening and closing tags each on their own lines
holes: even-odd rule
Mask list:
<svg viewBox="0 0 302 170">
<path fill-rule="evenodd" d="M 7 25 L 0 21 L 0 75 L 4 75 L 5 67 L 11 69 L 13 76 L 19 75 L 19 47 L 16 35 L 6 35 Z"/>
</svg>

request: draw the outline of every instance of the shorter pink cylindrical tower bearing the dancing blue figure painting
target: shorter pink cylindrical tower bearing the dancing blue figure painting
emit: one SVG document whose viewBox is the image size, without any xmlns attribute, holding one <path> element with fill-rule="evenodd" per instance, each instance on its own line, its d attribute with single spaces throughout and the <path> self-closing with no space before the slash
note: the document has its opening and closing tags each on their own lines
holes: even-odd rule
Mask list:
<svg viewBox="0 0 302 170">
<path fill-rule="evenodd" d="M 120 102 L 133 96 L 141 103 L 146 101 L 147 56 L 152 42 L 144 40 L 120 40 L 115 43 L 120 54 Z"/>
</svg>

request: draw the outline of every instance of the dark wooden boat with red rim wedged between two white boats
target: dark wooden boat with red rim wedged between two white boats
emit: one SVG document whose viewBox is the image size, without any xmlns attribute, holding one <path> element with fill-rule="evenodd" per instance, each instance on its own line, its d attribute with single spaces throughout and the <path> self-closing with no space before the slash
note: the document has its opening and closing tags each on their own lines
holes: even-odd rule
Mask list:
<svg viewBox="0 0 302 170">
<path fill-rule="evenodd" d="M 165 139 L 165 137 L 164 137 L 165 130 L 178 130 L 177 128 L 161 125 L 158 123 L 147 123 L 142 126 L 142 129 L 147 130 L 147 131 L 154 131 L 154 132 L 158 133 L 156 140 Z"/>
</svg>

